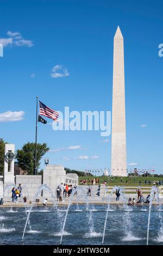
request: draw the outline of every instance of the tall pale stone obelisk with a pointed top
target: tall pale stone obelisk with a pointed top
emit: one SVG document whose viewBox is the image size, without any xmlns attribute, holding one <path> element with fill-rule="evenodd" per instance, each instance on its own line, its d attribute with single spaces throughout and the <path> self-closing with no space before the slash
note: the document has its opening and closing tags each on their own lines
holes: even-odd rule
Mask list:
<svg viewBox="0 0 163 256">
<path fill-rule="evenodd" d="M 127 176 L 124 48 L 119 26 L 114 36 L 111 136 L 111 174 Z"/>
</svg>

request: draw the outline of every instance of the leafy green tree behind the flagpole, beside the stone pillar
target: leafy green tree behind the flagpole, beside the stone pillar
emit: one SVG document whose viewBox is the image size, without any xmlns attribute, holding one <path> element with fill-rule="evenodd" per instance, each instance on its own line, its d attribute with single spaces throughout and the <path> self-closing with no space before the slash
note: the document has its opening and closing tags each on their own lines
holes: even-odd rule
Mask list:
<svg viewBox="0 0 163 256">
<path fill-rule="evenodd" d="M 40 160 L 43 155 L 49 150 L 46 143 L 37 143 L 37 168 L 40 166 Z M 28 174 L 33 174 L 35 167 L 35 143 L 26 143 L 22 149 L 18 149 L 16 160 L 22 170 L 26 170 Z"/>
</svg>

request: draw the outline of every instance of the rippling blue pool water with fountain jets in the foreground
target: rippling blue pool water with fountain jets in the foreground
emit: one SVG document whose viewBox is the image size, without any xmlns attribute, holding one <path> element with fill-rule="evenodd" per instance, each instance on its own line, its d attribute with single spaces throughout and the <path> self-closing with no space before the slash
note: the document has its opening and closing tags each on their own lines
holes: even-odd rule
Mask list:
<svg viewBox="0 0 163 256">
<path fill-rule="evenodd" d="M 68 211 L 62 245 L 101 245 L 106 216 L 106 205 L 72 205 Z M 149 206 L 111 205 L 106 223 L 104 245 L 146 245 Z M 52 207 L 36 206 L 30 213 L 30 227 L 27 225 L 22 242 L 24 226 L 29 209 L 0 209 L 1 245 L 59 245 L 61 227 L 66 207 L 59 208 L 59 215 Z M 152 206 L 149 229 L 149 245 L 163 245 L 163 209 Z"/>
</svg>

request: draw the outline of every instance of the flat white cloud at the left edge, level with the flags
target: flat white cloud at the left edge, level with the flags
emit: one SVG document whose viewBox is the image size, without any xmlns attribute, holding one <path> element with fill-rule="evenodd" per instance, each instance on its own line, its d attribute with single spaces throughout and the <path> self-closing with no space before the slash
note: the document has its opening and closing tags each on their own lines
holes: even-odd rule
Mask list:
<svg viewBox="0 0 163 256">
<path fill-rule="evenodd" d="M 0 122 L 13 122 L 23 119 L 24 111 L 7 111 L 0 113 Z"/>
</svg>

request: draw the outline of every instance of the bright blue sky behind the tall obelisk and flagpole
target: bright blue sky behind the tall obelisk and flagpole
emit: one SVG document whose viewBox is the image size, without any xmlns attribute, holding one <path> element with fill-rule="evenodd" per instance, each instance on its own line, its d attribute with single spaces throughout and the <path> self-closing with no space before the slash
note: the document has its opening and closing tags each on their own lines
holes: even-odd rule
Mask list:
<svg viewBox="0 0 163 256">
<path fill-rule="evenodd" d="M 0 42 L 3 39 L 6 47 L 0 57 L 0 137 L 16 149 L 34 141 L 37 95 L 59 111 L 65 106 L 70 111 L 111 111 L 113 38 L 119 25 L 124 38 L 128 168 L 161 173 L 162 8 L 162 1 L 1 0 Z M 56 65 L 69 75 L 52 77 Z M 4 114 L 8 111 L 19 112 L 15 119 L 23 119 L 10 121 Z M 50 163 L 79 170 L 110 168 L 111 136 L 54 131 L 49 123 L 39 123 L 38 142 L 60 149 L 46 154 Z M 108 142 L 99 142 L 103 139 Z"/>
</svg>

